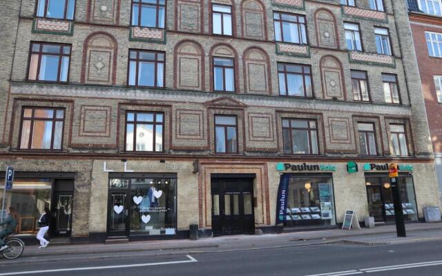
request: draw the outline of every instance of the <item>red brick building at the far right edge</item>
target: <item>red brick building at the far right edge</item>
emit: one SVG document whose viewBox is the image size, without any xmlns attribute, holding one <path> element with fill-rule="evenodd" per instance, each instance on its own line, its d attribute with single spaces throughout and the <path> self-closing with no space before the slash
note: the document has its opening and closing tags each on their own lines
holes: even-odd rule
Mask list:
<svg viewBox="0 0 442 276">
<path fill-rule="evenodd" d="M 407 3 L 442 201 L 442 2 Z"/>
</svg>

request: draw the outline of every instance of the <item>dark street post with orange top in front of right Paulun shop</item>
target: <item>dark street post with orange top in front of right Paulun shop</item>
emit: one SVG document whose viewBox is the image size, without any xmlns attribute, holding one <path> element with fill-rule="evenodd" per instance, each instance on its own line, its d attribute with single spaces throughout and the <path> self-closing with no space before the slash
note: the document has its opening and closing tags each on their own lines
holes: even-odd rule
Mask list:
<svg viewBox="0 0 442 276">
<path fill-rule="evenodd" d="M 388 166 L 388 176 L 390 177 L 390 184 L 392 187 L 396 233 L 398 237 L 407 237 L 407 233 L 405 232 L 405 222 L 403 220 L 402 200 L 401 195 L 399 194 L 398 175 L 398 166 L 394 163 L 390 164 L 390 166 Z"/>
</svg>

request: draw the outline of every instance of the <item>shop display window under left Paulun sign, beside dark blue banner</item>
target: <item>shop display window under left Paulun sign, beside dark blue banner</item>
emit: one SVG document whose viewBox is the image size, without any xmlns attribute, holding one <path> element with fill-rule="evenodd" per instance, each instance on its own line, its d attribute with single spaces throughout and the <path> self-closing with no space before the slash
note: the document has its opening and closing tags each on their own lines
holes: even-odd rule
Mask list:
<svg viewBox="0 0 442 276">
<path fill-rule="evenodd" d="M 291 177 L 285 226 L 334 226 L 332 177 Z"/>
</svg>

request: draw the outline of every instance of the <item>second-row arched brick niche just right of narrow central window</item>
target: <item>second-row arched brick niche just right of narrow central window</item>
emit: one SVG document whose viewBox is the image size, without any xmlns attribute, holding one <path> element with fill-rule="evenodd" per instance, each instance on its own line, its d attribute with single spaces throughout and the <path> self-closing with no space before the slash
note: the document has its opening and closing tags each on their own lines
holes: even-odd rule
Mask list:
<svg viewBox="0 0 442 276">
<path fill-rule="evenodd" d="M 242 57 L 244 67 L 244 92 L 271 94 L 270 66 L 267 53 L 260 48 L 249 48 Z"/>
</svg>

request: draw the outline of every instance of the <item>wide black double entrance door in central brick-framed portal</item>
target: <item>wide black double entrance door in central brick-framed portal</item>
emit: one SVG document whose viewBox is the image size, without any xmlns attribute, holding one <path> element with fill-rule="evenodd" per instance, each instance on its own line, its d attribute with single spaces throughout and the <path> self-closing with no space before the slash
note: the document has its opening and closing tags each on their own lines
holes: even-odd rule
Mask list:
<svg viewBox="0 0 442 276">
<path fill-rule="evenodd" d="M 253 234 L 253 179 L 213 178 L 213 235 Z"/>
</svg>

